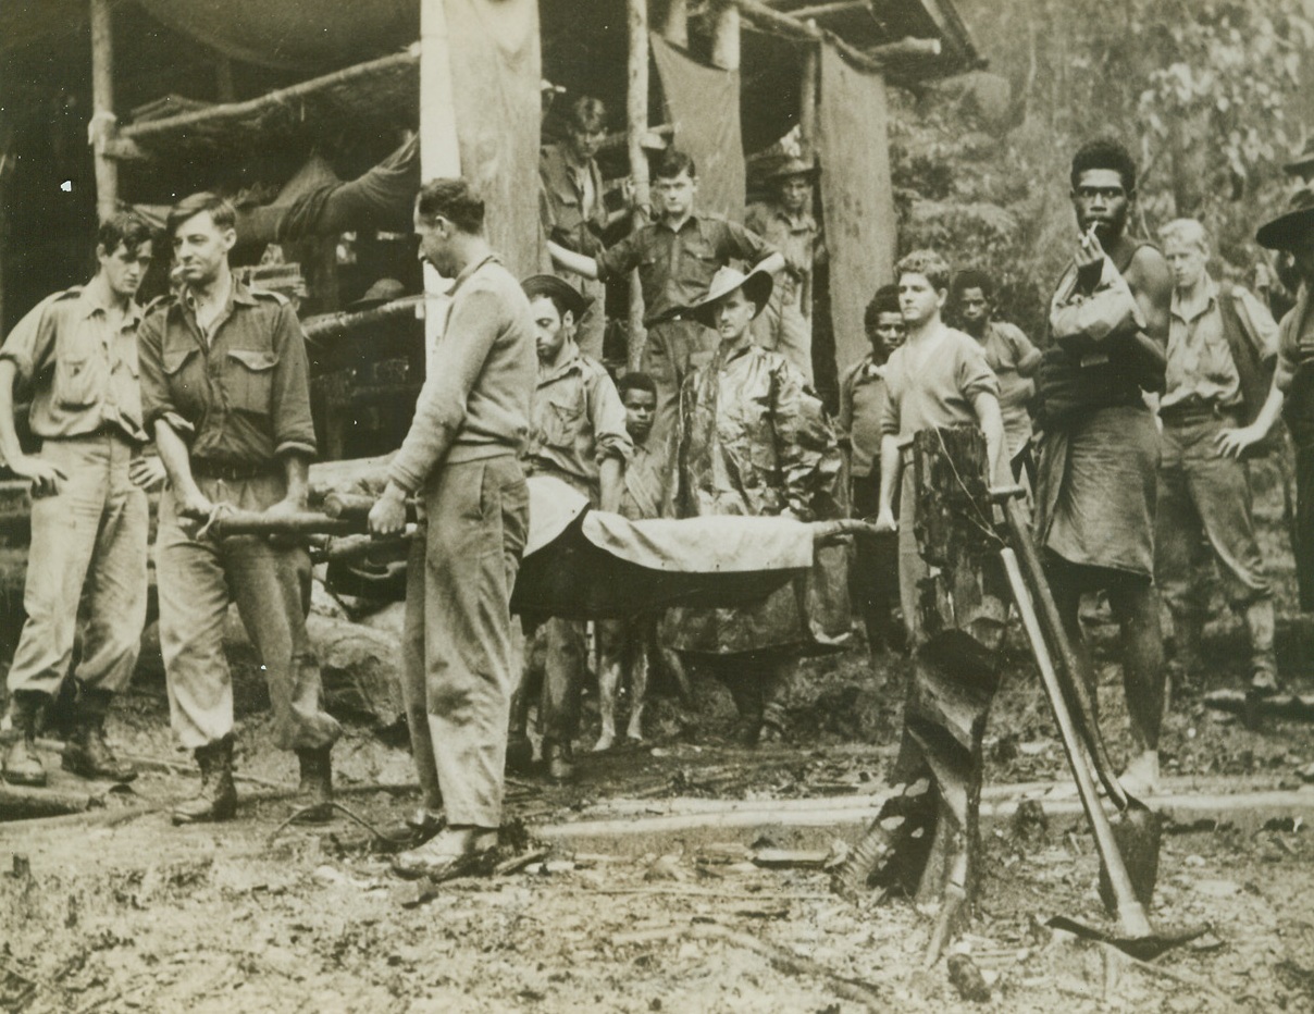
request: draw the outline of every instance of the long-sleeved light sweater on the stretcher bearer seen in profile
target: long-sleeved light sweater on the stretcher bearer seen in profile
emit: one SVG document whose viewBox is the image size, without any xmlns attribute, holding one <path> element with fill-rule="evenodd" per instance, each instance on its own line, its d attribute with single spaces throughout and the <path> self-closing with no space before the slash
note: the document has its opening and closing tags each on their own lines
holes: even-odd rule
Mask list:
<svg viewBox="0 0 1314 1014">
<path fill-rule="evenodd" d="M 520 282 L 490 254 L 461 271 L 451 294 L 415 418 L 388 470 L 409 493 L 440 461 L 518 454 L 530 433 L 539 357 Z"/>
</svg>

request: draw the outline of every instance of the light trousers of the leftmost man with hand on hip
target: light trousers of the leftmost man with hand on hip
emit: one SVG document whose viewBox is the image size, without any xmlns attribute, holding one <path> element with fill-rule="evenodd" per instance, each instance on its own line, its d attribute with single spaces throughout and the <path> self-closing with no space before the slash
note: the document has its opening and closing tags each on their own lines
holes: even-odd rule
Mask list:
<svg viewBox="0 0 1314 1014">
<path fill-rule="evenodd" d="M 67 475 L 59 493 L 32 502 L 32 544 L 9 691 L 55 695 L 68 674 L 85 591 L 85 688 L 127 686 L 146 623 L 146 494 L 127 478 L 135 448 L 125 437 L 47 440 L 41 458 Z"/>
</svg>

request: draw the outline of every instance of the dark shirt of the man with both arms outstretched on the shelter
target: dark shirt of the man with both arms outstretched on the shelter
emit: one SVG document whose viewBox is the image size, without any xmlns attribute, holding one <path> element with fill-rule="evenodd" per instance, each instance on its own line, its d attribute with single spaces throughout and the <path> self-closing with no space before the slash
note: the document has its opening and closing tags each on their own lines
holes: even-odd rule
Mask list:
<svg viewBox="0 0 1314 1014">
<path fill-rule="evenodd" d="M 644 323 L 654 324 L 707 293 L 712 276 L 731 260 L 757 264 L 775 250 L 757 232 L 717 215 L 694 213 L 673 230 L 653 222 L 598 255 L 598 277 L 639 269 Z"/>
</svg>

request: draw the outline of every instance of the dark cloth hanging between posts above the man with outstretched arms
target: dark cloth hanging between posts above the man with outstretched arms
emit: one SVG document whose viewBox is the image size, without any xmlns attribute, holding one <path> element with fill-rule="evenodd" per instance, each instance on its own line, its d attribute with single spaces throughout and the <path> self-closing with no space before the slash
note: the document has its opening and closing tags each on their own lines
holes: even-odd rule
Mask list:
<svg viewBox="0 0 1314 1014">
<path fill-rule="evenodd" d="M 740 137 L 738 71 L 706 67 L 660 35 L 653 60 L 675 127 L 675 147 L 698 165 L 698 208 L 744 219 L 744 141 Z"/>
</svg>

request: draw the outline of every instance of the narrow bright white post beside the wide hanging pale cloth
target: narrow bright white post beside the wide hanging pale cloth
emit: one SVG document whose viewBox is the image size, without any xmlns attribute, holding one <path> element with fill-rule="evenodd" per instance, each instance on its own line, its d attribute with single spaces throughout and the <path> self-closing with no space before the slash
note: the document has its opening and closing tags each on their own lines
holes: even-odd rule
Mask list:
<svg viewBox="0 0 1314 1014">
<path fill-rule="evenodd" d="M 419 11 L 419 171 L 422 180 L 461 175 L 456 134 L 456 92 L 452 88 L 451 37 L 445 0 L 422 0 Z M 451 281 L 424 264 L 424 340 L 432 351 L 443 336 L 447 314 L 440 313 Z"/>
</svg>

